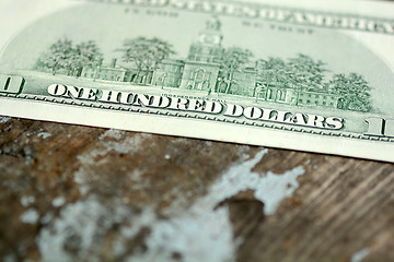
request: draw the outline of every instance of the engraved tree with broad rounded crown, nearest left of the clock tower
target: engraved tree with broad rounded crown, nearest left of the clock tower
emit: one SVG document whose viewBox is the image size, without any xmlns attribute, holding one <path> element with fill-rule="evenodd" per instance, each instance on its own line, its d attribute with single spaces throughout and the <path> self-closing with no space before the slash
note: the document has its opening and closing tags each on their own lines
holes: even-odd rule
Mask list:
<svg viewBox="0 0 394 262">
<path fill-rule="evenodd" d="M 136 64 L 136 80 L 140 78 L 142 71 L 148 73 L 149 70 L 154 70 L 163 59 L 175 53 L 171 44 L 155 37 L 126 39 L 123 48 L 117 49 L 117 51 L 123 52 L 123 60 L 125 62 L 134 62 Z"/>
</svg>

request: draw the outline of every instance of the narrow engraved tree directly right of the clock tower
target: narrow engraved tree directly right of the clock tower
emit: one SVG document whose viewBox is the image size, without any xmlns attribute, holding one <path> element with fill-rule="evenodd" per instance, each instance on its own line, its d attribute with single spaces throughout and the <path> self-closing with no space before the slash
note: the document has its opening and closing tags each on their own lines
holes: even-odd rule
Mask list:
<svg viewBox="0 0 394 262">
<path fill-rule="evenodd" d="M 220 82 L 225 84 L 224 93 L 231 91 L 231 85 L 234 83 L 233 76 L 235 71 L 241 71 L 243 66 L 253 57 L 252 51 L 242 49 L 240 47 L 231 47 L 224 50 L 220 57 Z"/>
</svg>

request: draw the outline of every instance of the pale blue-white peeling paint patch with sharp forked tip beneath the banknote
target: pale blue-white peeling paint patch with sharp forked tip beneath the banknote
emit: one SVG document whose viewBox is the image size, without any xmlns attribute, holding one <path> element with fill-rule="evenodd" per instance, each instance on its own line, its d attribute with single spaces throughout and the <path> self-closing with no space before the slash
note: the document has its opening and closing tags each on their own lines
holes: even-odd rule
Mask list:
<svg viewBox="0 0 394 262">
<path fill-rule="evenodd" d="M 253 172 L 252 169 L 266 153 L 267 150 L 263 150 L 250 160 L 245 160 L 245 156 L 242 164 L 231 167 L 188 210 L 178 210 L 176 203 L 170 206 L 166 214 L 173 218 L 152 224 L 146 241 L 148 251 L 128 261 L 173 261 L 173 253 L 179 253 L 182 260 L 188 262 L 234 261 L 242 239 L 233 238 L 228 207 L 215 207 L 240 191 L 251 189 L 255 190 L 256 199 L 264 201 L 266 212 L 273 214 L 280 201 L 297 189 L 297 177 L 304 172 L 302 167 L 279 176 Z"/>
</svg>

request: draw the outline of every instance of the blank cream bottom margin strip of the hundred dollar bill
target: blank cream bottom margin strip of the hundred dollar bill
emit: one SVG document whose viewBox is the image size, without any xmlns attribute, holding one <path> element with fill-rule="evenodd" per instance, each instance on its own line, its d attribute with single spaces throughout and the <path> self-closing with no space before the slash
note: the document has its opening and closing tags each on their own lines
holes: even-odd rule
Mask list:
<svg viewBox="0 0 394 262">
<path fill-rule="evenodd" d="M 394 147 L 392 144 L 376 144 L 376 141 L 371 140 L 348 140 L 344 136 L 311 136 L 310 133 L 296 134 L 293 132 L 283 135 L 283 133 L 278 133 L 278 130 L 262 130 L 259 127 L 241 124 L 232 126 L 232 130 L 229 132 L 228 123 L 210 121 L 199 121 L 199 130 L 196 131 L 196 124 L 193 124 L 195 119 L 192 118 L 163 119 L 162 116 L 158 115 L 43 104 L 39 100 L 11 99 L 0 97 L 0 105 L 5 108 L 1 110 L 3 116 L 394 162 L 394 154 L 392 154 Z M 243 133 L 243 135 L 239 135 L 240 133 Z M 302 143 L 299 142 L 301 140 Z"/>
</svg>

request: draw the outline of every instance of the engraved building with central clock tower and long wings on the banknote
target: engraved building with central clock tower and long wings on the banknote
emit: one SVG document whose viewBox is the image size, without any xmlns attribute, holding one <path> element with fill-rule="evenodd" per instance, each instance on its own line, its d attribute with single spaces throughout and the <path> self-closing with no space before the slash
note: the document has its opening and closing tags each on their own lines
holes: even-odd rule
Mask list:
<svg viewBox="0 0 394 262">
<path fill-rule="evenodd" d="M 130 82 L 142 85 L 160 86 L 161 88 L 181 88 L 201 91 L 206 94 L 227 94 L 251 97 L 257 100 L 301 106 L 321 106 L 336 108 L 338 96 L 328 86 L 310 86 L 308 90 L 297 86 L 285 86 L 273 81 L 275 74 L 265 69 L 263 74 L 257 70 L 257 62 L 244 64 L 231 73 L 231 80 L 221 74 L 221 56 L 223 35 L 221 23 L 217 17 L 206 22 L 206 26 L 192 43 L 186 59 L 166 58 L 153 70 L 138 71 L 116 64 L 83 67 L 82 76 L 94 80 Z"/>
</svg>

